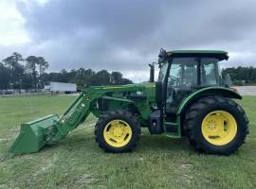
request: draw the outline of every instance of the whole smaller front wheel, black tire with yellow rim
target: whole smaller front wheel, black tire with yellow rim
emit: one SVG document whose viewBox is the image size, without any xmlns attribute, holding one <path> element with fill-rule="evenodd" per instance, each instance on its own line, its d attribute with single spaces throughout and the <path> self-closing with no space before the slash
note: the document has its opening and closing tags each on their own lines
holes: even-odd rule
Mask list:
<svg viewBox="0 0 256 189">
<path fill-rule="evenodd" d="M 95 128 L 97 143 L 109 152 L 131 151 L 137 146 L 139 135 L 137 117 L 124 111 L 104 113 Z"/>
</svg>

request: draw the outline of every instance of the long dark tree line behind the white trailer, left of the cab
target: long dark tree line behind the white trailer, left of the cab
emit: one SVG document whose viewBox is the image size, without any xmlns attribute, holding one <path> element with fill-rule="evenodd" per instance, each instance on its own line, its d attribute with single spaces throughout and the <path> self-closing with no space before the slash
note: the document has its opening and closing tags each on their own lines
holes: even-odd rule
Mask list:
<svg viewBox="0 0 256 189">
<path fill-rule="evenodd" d="M 49 63 L 44 57 L 28 56 L 24 58 L 14 52 L 0 61 L 0 90 L 33 90 L 44 89 L 50 81 L 77 83 L 78 89 L 88 85 L 119 85 L 130 84 L 131 80 L 122 77 L 119 72 L 99 72 L 80 68 L 71 71 L 46 73 Z"/>
</svg>

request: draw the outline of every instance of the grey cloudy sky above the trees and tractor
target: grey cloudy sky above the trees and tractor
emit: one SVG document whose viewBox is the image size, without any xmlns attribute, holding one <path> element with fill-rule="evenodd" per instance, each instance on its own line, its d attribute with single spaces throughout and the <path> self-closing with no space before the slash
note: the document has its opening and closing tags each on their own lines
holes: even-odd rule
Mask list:
<svg viewBox="0 0 256 189">
<path fill-rule="evenodd" d="M 165 49 L 222 49 L 222 66 L 256 65 L 255 0 L 0 0 L 0 59 L 44 56 L 142 81 Z"/>
</svg>

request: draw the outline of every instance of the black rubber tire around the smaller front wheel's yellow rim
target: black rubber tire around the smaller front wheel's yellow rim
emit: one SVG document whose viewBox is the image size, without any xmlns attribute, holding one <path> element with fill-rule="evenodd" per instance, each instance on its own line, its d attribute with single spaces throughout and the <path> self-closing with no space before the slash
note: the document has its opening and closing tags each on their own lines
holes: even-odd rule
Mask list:
<svg viewBox="0 0 256 189">
<path fill-rule="evenodd" d="M 121 147 L 110 146 L 104 139 L 103 130 L 105 129 L 105 127 L 110 121 L 115 119 L 125 121 L 126 123 L 129 124 L 130 128 L 132 129 L 132 137 L 129 143 L 125 146 L 121 146 Z M 132 113 L 126 112 L 126 111 L 105 112 L 104 114 L 101 115 L 101 117 L 99 118 L 95 126 L 96 142 L 106 152 L 120 153 L 120 152 L 132 151 L 137 146 L 137 142 L 140 137 L 140 132 L 141 132 L 140 125 L 139 125 L 139 122 L 137 121 L 137 117 L 134 116 Z"/>
</svg>

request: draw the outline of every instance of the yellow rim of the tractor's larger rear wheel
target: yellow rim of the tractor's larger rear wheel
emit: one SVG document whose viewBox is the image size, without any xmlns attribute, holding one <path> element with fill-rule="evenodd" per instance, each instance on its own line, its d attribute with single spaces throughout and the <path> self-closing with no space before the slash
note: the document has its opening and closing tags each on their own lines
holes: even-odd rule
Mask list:
<svg viewBox="0 0 256 189">
<path fill-rule="evenodd" d="M 231 142 L 237 132 L 234 117 L 225 111 L 214 111 L 207 114 L 202 122 L 204 138 L 212 145 L 224 146 Z"/>
</svg>

